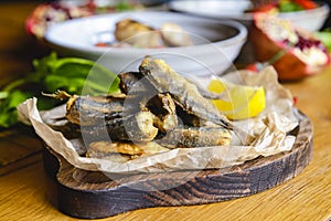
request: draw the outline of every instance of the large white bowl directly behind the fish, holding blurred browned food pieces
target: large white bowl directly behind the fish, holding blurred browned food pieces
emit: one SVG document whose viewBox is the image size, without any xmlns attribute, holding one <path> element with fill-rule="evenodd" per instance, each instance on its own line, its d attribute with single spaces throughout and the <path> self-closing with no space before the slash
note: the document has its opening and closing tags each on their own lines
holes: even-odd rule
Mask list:
<svg viewBox="0 0 331 221">
<path fill-rule="evenodd" d="M 135 19 L 159 28 L 173 22 L 190 33 L 194 45 L 161 49 L 97 48 L 98 41 L 114 41 L 116 22 Z M 247 29 L 236 21 L 196 18 L 173 12 L 122 12 L 68 20 L 49 28 L 45 41 L 63 55 L 98 60 L 116 73 L 137 71 L 146 55 L 164 59 L 185 75 L 221 74 L 237 57 Z M 212 43 L 211 43 L 212 42 Z"/>
</svg>

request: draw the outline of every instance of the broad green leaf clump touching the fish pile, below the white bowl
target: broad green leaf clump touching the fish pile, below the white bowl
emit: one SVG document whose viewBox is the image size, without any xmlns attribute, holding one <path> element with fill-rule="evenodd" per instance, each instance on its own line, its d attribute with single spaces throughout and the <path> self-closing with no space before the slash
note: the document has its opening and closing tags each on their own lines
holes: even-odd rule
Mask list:
<svg viewBox="0 0 331 221">
<path fill-rule="evenodd" d="M 92 95 L 119 92 L 117 75 L 89 60 L 56 59 L 55 55 L 50 55 L 40 62 L 34 62 L 34 64 L 39 75 L 44 76 L 49 92 L 63 90 L 68 93 L 81 94 L 83 88 Z M 92 83 L 94 86 L 89 88 Z"/>
</svg>

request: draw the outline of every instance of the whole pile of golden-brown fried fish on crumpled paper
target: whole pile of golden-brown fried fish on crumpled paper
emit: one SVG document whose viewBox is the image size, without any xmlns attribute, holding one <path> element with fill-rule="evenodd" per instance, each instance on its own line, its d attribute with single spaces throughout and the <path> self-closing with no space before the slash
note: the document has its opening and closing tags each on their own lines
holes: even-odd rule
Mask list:
<svg viewBox="0 0 331 221">
<path fill-rule="evenodd" d="M 146 56 L 118 75 L 121 93 L 73 95 L 66 118 L 79 127 L 86 157 L 124 162 L 173 148 L 229 145 L 234 125 L 211 103 L 217 95 Z"/>
</svg>

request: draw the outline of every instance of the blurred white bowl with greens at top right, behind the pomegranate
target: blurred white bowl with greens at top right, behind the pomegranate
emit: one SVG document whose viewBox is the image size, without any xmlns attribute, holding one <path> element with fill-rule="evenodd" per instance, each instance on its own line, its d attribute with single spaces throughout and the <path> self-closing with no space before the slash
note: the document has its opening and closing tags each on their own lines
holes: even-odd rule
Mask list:
<svg viewBox="0 0 331 221">
<path fill-rule="evenodd" d="M 318 31 L 324 24 L 330 8 L 327 3 L 311 10 L 279 13 L 280 18 L 289 19 L 293 24 L 308 31 Z M 249 27 L 253 13 L 245 12 L 250 8 L 249 0 L 173 0 L 169 9 L 214 19 L 233 19 Z"/>
</svg>

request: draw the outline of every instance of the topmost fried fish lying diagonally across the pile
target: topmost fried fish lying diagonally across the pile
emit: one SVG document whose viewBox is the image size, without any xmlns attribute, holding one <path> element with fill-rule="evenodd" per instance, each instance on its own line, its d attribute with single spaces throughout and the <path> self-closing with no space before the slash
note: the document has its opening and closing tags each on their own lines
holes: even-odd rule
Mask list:
<svg viewBox="0 0 331 221">
<path fill-rule="evenodd" d="M 204 98 L 194 84 L 178 74 L 163 60 L 146 56 L 139 71 L 160 93 L 170 93 L 188 113 L 233 129 L 232 122 Z"/>
</svg>

